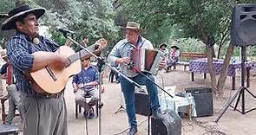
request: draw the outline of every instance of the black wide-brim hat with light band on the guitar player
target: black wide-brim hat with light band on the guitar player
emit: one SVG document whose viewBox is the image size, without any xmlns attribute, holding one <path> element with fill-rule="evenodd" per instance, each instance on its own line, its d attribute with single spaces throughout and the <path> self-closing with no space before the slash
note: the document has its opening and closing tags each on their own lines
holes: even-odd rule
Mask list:
<svg viewBox="0 0 256 135">
<path fill-rule="evenodd" d="M 22 16 L 27 14 L 34 14 L 36 18 L 43 16 L 45 10 L 43 8 L 31 8 L 29 5 L 23 5 L 16 7 L 13 10 L 10 10 L 8 13 L 9 18 L 7 18 L 2 24 L 2 30 L 9 30 L 16 28 L 16 21 L 19 20 Z"/>
</svg>

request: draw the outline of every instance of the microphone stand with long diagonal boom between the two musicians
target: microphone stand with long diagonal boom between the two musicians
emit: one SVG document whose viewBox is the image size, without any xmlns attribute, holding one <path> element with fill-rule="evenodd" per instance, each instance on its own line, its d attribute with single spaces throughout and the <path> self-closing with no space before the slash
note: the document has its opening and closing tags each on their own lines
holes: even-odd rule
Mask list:
<svg viewBox="0 0 256 135">
<path fill-rule="evenodd" d="M 76 45 L 80 46 L 82 49 L 84 49 L 86 52 L 88 52 L 90 55 L 94 56 L 97 61 L 98 61 L 98 69 L 99 69 L 99 100 L 98 100 L 98 108 L 99 108 L 99 122 L 98 122 L 98 134 L 101 135 L 102 132 L 102 126 L 101 126 L 101 108 L 102 108 L 102 100 L 101 100 L 101 91 L 102 91 L 102 87 L 101 87 L 101 81 L 102 81 L 102 65 L 106 65 L 108 67 L 110 67 L 112 70 L 114 70 L 116 73 L 120 74 L 123 78 L 125 78 L 126 80 L 128 80 L 130 83 L 134 84 L 136 87 L 142 88 L 141 85 L 139 85 L 138 83 L 136 83 L 134 80 L 129 79 L 127 76 L 125 76 L 124 74 L 122 74 L 121 72 L 119 72 L 119 70 L 117 70 L 115 67 L 112 67 L 108 62 L 104 61 L 102 59 L 102 57 L 99 57 L 97 55 L 95 55 L 94 53 L 92 53 L 91 51 L 89 51 L 89 49 L 84 48 L 80 43 L 75 42 L 75 40 L 73 40 L 71 37 L 69 36 L 65 36 L 66 38 L 68 38 L 71 42 L 74 42 Z"/>
</svg>

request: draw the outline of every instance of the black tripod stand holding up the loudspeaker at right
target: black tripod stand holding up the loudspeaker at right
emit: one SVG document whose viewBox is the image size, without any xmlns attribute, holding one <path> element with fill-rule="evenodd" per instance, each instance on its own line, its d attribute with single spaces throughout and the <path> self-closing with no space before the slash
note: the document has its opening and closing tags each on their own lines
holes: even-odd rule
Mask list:
<svg viewBox="0 0 256 135">
<path fill-rule="evenodd" d="M 241 87 L 238 89 L 238 91 L 236 93 L 233 94 L 232 98 L 230 100 L 228 100 L 225 104 L 225 106 L 222 107 L 219 115 L 217 116 L 217 118 L 215 119 L 215 122 L 217 123 L 220 118 L 222 117 L 222 115 L 226 112 L 226 109 L 228 108 L 228 106 L 231 106 L 231 104 L 233 103 L 233 100 L 235 100 L 235 98 L 238 96 L 238 99 L 235 103 L 235 106 L 231 106 L 233 107 L 234 111 L 238 111 L 241 114 L 246 114 L 249 113 L 253 110 L 256 110 L 256 108 L 252 108 L 250 110 L 245 109 L 245 92 L 249 93 L 251 96 L 253 96 L 253 98 L 256 98 L 255 95 L 253 95 L 253 93 L 251 93 L 246 87 L 245 87 L 245 79 L 246 79 L 246 67 L 245 67 L 245 62 L 246 62 L 246 46 L 241 47 Z M 248 74 L 249 75 L 249 74 Z M 241 100 L 240 100 L 241 99 Z M 238 104 L 241 104 L 241 111 L 237 109 Z"/>
</svg>

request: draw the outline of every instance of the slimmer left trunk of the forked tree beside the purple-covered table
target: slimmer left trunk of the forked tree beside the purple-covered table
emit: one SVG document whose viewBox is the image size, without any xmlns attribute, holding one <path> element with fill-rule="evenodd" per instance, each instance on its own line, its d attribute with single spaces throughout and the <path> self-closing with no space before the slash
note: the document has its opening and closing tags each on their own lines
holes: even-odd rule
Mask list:
<svg viewBox="0 0 256 135">
<path fill-rule="evenodd" d="M 216 74 L 213 67 L 213 47 L 207 46 L 207 64 L 208 64 L 208 72 L 211 76 L 211 87 L 213 89 L 213 93 L 218 93 L 218 89 L 216 87 Z"/>
</svg>

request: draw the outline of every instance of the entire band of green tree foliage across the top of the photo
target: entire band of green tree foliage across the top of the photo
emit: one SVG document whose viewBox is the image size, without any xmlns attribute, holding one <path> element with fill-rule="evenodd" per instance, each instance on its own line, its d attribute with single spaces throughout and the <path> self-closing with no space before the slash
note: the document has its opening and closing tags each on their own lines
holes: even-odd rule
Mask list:
<svg viewBox="0 0 256 135">
<path fill-rule="evenodd" d="M 0 2 L 0 12 L 6 13 L 16 3 L 30 3 L 46 8 L 42 25 L 49 26 L 49 32 L 59 44 L 66 39 L 56 31 L 57 27 L 77 32 L 75 40 L 89 37 L 92 44 L 100 37 L 108 39 L 111 49 L 123 38 L 116 25 L 125 25 L 127 21 L 141 23 L 143 36 L 158 47 L 161 42 L 174 44 L 177 41 L 182 51 L 204 52 L 202 42 L 213 36 L 217 45 L 223 44 L 221 55 L 225 55 L 230 37 L 230 22 L 233 5 L 237 3 L 255 3 L 255 0 L 121 0 L 118 9 L 113 9 L 109 0 L 16 0 Z M 118 6 L 116 6 L 118 7 Z M 3 19 L 0 20 L 3 22 Z M 3 34 L 0 33 L 0 38 Z M 196 39 L 200 39 L 196 40 Z M 216 47 L 215 47 L 216 48 Z M 248 48 L 248 55 L 256 55 L 254 47 Z M 235 49 L 233 55 L 239 55 Z"/>
</svg>

